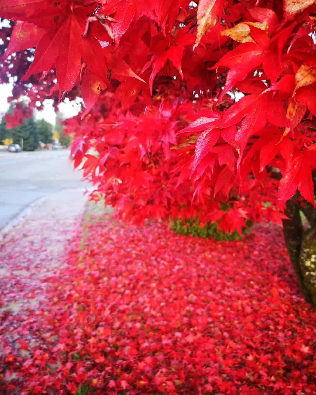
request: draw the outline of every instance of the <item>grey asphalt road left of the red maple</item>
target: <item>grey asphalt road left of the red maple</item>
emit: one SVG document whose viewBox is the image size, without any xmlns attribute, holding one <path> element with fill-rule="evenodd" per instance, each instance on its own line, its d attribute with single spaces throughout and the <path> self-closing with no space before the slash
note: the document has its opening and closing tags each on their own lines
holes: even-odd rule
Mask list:
<svg viewBox="0 0 316 395">
<path fill-rule="evenodd" d="M 74 170 L 68 150 L 0 151 L 0 229 L 42 196 L 65 188 L 90 187 Z"/>
</svg>

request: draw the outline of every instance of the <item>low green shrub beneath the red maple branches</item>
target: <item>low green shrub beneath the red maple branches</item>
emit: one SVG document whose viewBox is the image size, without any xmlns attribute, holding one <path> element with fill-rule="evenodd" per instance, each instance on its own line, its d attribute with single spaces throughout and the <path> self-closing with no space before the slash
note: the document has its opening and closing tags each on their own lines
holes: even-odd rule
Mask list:
<svg viewBox="0 0 316 395">
<path fill-rule="evenodd" d="M 243 227 L 243 235 L 249 233 L 251 224 L 251 221 L 247 221 L 248 228 Z M 206 237 L 215 239 L 217 241 L 241 239 L 241 235 L 239 235 L 237 231 L 232 233 L 228 232 L 225 234 L 224 231 L 217 229 L 217 222 L 214 222 L 213 224 L 211 224 L 211 222 L 206 222 L 203 228 L 200 228 L 197 216 L 195 218 L 187 218 L 185 222 L 178 219 L 171 220 L 169 222 L 169 227 L 171 230 L 180 233 L 181 235 L 188 236 L 192 234 L 194 237 L 203 237 L 203 239 Z"/>
</svg>

